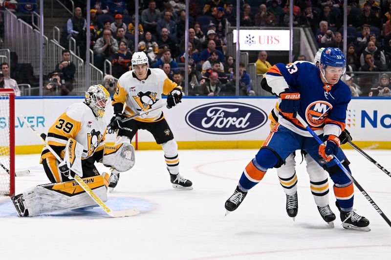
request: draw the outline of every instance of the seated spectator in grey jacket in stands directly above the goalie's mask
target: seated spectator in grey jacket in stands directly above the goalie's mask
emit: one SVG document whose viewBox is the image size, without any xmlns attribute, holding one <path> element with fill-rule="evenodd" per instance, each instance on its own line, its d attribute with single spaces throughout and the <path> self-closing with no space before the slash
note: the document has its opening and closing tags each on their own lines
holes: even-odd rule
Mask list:
<svg viewBox="0 0 391 260">
<path fill-rule="evenodd" d="M 118 42 L 111 36 L 110 29 L 104 29 L 102 37 L 96 40 L 94 52 L 96 53 L 94 63 L 95 66 L 103 70 L 103 63 L 109 59 L 111 55 L 118 51 Z"/>
</svg>

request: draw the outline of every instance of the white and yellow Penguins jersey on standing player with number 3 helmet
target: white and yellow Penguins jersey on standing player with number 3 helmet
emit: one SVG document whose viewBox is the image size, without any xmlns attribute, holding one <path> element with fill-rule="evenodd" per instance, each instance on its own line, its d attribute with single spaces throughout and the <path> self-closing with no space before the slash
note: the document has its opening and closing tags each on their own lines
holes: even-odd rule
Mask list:
<svg viewBox="0 0 391 260">
<path fill-rule="evenodd" d="M 138 80 L 133 71 L 128 71 L 119 78 L 112 101 L 115 114 L 122 114 L 125 103 L 124 114 L 132 116 L 160 105 L 162 94 L 168 95 L 175 88 L 182 90 L 161 69 L 148 69 L 147 75 L 147 79 Z M 152 122 L 163 118 L 162 110 L 156 109 L 134 120 Z"/>
</svg>

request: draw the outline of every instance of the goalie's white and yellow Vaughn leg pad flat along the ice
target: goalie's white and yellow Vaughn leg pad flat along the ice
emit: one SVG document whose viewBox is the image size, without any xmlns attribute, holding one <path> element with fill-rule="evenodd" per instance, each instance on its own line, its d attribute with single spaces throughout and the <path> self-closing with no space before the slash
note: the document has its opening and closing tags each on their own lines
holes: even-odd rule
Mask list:
<svg viewBox="0 0 391 260">
<path fill-rule="evenodd" d="M 102 201 L 107 201 L 107 174 L 83 180 Z M 23 197 L 29 216 L 96 204 L 76 181 L 39 185 L 23 192 Z"/>
</svg>

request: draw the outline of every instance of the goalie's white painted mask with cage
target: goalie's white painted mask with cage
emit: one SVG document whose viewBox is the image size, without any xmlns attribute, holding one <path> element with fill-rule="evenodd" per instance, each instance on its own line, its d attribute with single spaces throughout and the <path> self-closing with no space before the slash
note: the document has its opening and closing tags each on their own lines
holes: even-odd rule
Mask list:
<svg viewBox="0 0 391 260">
<path fill-rule="evenodd" d="M 92 109 L 96 117 L 105 115 L 109 92 L 102 85 L 91 85 L 86 92 L 86 104 Z"/>
</svg>

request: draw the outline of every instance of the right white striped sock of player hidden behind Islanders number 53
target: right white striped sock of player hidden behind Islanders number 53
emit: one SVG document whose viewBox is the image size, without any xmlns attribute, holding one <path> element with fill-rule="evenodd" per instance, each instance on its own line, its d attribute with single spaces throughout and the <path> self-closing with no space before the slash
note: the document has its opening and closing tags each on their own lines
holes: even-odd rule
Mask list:
<svg viewBox="0 0 391 260">
<path fill-rule="evenodd" d="M 309 154 L 305 155 L 307 173 L 315 204 L 319 207 L 328 205 L 328 174 Z"/>
</svg>

